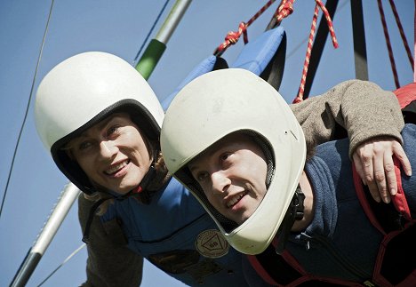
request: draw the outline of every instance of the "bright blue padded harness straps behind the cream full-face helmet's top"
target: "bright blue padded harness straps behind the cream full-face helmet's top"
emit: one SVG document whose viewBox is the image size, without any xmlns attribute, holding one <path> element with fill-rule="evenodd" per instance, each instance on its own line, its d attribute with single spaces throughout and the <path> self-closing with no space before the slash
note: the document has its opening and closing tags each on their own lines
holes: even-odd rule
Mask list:
<svg viewBox="0 0 416 287">
<path fill-rule="evenodd" d="M 244 68 L 272 84 L 276 90 L 280 86 L 283 76 L 285 56 L 284 28 L 277 27 L 265 31 L 255 40 L 244 45 L 236 61 L 229 68 Z M 284 49 L 279 49 L 280 47 Z M 215 69 L 228 68 L 227 61 L 214 55 L 201 61 L 179 86 L 162 101 L 166 110 L 176 94 L 197 76 L 211 72 Z"/>
</svg>

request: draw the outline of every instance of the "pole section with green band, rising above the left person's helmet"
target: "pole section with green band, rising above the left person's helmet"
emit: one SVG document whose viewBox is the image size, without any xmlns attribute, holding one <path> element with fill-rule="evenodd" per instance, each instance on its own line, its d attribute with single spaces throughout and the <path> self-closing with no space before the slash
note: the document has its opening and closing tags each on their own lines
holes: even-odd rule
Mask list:
<svg viewBox="0 0 416 287">
<path fill-rule="evenodd" d="M 177 0 L 173 4 L 172 10 L 166 20 L 164 20 L 162 28 L 157 32 L 156 37 L 150 41 L 145 52 L 143 52 L 135 68 L 146 80 L 152 74 L 157 62 L 162 58 L 169 38 L 172 36 L 190 3 L 191 0 Z"/>
</svg>

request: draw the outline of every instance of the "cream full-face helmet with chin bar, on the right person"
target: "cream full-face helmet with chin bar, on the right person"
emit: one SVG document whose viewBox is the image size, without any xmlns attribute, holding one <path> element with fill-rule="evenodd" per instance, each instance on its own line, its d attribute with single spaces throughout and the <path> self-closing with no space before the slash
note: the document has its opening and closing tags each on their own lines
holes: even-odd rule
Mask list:
<svg viewBox="0 0 416 287">
<path fill-rule="evenodd" d="M 271 163 L 266 179 L 268 192 L 240 226 L 212 207 L 187 168 L 196 155 L 237 131 L 254 134 Z M 268 247 L 298 187 L 306 158 L 300 124 L 270 84 L 240 68 L 197 77 L 167 109 L 161 147 L 168 170 L 196 195 L 228 243 L 246 254 L 259 254 Z"/>
</svg>

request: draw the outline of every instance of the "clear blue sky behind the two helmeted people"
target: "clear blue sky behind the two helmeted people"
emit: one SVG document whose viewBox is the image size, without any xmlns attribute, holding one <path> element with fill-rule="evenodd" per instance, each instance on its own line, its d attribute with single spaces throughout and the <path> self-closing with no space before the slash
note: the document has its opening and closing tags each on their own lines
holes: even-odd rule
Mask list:
<svg viewBox="0 0 416 287">
<path fill-rule="evenodd" d="M 159 99 L 169 95 L 197 63 L 211 55 L 228 31 L 236 30 L 241 21 L 249 20 L 266 2 L 210 0 L 191 3 L 149 78 L 149 83 Z M 384 89 L 394 90 L 377 1 L 363 2 L 370 80 Z M 34 80 L 51 1 L 0 1 L 0 134 L 3 139 L 0 148 L 0 195 L 4 198 L 4 208 L 0 215 L 1 286 L 12 282 L 12 277 L 57 202 L 60 191 L 68 182 L 37 138 L 33 120 L 33 98 L 30 98 L 32 83 L 36 91 L 42 77 L 53 66 L 79 52 L 112 52 L 134 65 L 133 60 L 164 3 L 165 0 L 55 1 Z M 388 1 L 384 0 L 382 3 L 394 46 L 400 84 L 411 83 L 412 68 L 396 22 Z M 172 4 L 173 0 L 169 2 L 151 37 L 156 35 Z M 248 28 L 249 40 L 259 36 L 266 28 L 268 20 L 276 10 L 276 4 Z M 294 12 L 282 23 L 287 33 L 287 60 L 280 92 L 290 98 L 295 96 L 299 88 L 314 6 L 314 1 L 295 2 Z M 413 2 L 396 1 L 396 8 L 412 47 Z M 340 48 L 333 49 L 328 38 L 311 94 L 325 92 L 334 84 L 355 77 L 348 0 L 340 0 L 333 24 Z M 232 62 L 243 45 L 241 39 L 223 57 Z M 35 92 L 32 97 L 35 97 Z M 24 121 L 27 107 L 28 117 Z M 22 124 L 24 126 L 20 143 L 13 162 Z M 10 181 L 6 190 L 9 175 Z M 82 244 L 81 237 L 75 204 L 44 253 L 28 286 L 41 283 Z M 43 286 L 76 286 L 82 283 L 85 279 L 85 260 L 86 251 L 83 249 Z M 142 285 L 180 286 L 181 283 L 146 262 Z"/>
</svg>

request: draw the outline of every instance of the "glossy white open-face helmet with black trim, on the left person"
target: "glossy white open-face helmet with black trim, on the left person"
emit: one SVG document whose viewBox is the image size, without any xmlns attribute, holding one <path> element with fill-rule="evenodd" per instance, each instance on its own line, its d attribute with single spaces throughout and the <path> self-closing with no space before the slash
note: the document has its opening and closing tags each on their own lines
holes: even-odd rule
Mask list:
<svg viewBox="0 0 416 287">
<path fill-rule="evenodd" d="M 132 65 L 106 52 L 84 52 L 60 62 L 37 89 L 39 137 L 60 171 L 87 194 L 93 192 L 90 181 L 61 147 L 118 111 L 128 112 L 148 139 L 158 140 L 164 111 L 155 93 Z"/>
</svg>

